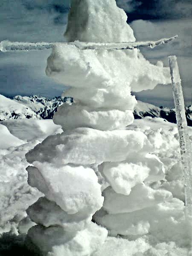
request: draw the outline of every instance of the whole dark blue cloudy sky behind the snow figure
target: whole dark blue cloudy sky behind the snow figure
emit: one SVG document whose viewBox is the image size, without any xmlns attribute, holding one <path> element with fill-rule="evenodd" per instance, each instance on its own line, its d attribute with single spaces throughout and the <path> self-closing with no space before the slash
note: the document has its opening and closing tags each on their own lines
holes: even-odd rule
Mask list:
<svg viewBox="0 0 192 256">
<path fill-rule="evenodd" d="M 177 55 L 185 104 L 192 104 L 192 2 L 191 0 L 116 0 L 128 15 L 137 41 L 179 38 L 154 49 L 142 49 L 151 63 L 168 66 Z M 0 41 L 64 41 L 70 0 L 0 0 Z M 50 50 L 0 52 L 0 93 L 5 96 L 60 96 L 64 87 L 45 75 Z M 173 107 L 171 85 L 136 94 L 137 99 Z"/>
</svg>

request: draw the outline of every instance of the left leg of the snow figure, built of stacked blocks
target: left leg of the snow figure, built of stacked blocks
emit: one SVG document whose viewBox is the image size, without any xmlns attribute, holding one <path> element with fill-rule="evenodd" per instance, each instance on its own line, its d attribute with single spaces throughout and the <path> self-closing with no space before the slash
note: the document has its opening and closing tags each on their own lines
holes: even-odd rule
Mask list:
<svg viewBox="0 0 192 256">
<path fill-rule="evenodd" d="M 50 146 L 55 149 L 61 144 Z M 30 153 L 27 159 L 30 162 Z M 28 232 L 28 247 L 43 256 L 49 252 L 54 256 L 90 255 L 108 234 L 105 228 L 91 222 L 103 204 L 96 174 L 88 167 L 49 160 L 33 161 L 34 166 L 27 168 L 29 185 L 45 195 L 27 209 L 31 220 L 38 224 Z"/>
</svg>

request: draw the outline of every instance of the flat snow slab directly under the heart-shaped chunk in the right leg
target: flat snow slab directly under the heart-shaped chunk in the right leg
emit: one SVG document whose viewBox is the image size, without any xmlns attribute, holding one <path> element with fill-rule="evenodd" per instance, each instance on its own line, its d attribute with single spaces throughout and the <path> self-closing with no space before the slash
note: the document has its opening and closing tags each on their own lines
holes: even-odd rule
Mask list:
<svg viewBox="0 0 192 256">
<path fill-rule="evenodd" d="M 144 183 L 137 184 L 129 195 L 116 193 L 111 187 L 102 192 L 105 198 L 103 209 L 109 214 L 134 212 L 172 199 L 172 193 L 163 189 L 154 190 Z"/>
</svg>

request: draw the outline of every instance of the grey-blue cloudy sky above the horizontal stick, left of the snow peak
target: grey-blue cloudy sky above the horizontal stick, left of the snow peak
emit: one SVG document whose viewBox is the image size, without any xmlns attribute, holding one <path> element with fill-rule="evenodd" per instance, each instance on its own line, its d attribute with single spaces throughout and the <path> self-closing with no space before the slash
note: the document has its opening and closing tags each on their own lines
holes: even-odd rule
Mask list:
<svg viewBox="0 0 192 256">
<path fill-rule="evenodd" d="M 0 41 L 63 41 L 69 1 L 61 2 L 65 4 L 57 0 L 0 1 Z"/>
</svg>

